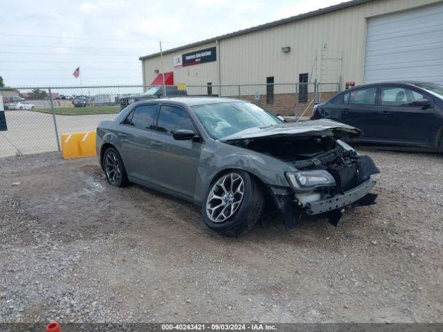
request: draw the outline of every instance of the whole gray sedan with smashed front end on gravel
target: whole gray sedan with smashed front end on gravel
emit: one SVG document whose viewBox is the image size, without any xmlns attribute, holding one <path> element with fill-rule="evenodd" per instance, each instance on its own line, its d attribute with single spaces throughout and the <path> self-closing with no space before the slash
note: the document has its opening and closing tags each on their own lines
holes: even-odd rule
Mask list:
<svg viewBox="0 0 443 332">
<path fill-rule="evenodd" d="M 201 205 L 209 228 L 237 236 L 265 210 L 280 211 L 290 230 L 304 214 L 336 225 L 345 208 L 373 204 L 379 169 L 344 142 L 359 136 L 332 120 L 285 123 L 242 100 L 170 98 L 100 122 L 96 148 L 109 184 Z"/>
</svg>

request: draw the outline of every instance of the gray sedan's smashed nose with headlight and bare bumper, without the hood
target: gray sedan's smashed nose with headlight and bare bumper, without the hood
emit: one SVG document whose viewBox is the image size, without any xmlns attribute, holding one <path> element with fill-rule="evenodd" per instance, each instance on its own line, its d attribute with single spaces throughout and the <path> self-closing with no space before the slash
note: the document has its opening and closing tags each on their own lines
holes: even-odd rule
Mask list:
<svg viewBox="0 0 443 332">
<path fill-rule="evenodd" d="M 291 187 L 270 186 L 286 230 L 295 227 L 304 214 L 326 214 L 329 223 L 337 225 L 345 208 L 372 205 L 377 199 L 371 193 L 376 184 L 371 176 L 379 169 L 372 158 L 360 156 L 344 142 L 338 141 L 338 147 L 325 154 L 292 164 L 298 171 L 287 174 Z"/>
</svg>

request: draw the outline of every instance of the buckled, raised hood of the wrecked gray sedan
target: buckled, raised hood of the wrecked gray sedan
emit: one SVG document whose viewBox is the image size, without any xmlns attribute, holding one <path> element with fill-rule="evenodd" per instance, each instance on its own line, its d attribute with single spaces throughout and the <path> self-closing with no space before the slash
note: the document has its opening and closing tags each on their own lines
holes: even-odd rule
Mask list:
<svg viewBox="0 0 443 332">
<path fill-rule="evenodd" d="M 362 134 L 363 132 L 360 129 L 334 120 L 324 119 L 249 128 L 226 136 L 221 139 L 221 142 L 279 136 L 333 136 L 335 138 L 356 140 Z"/>
</svg>

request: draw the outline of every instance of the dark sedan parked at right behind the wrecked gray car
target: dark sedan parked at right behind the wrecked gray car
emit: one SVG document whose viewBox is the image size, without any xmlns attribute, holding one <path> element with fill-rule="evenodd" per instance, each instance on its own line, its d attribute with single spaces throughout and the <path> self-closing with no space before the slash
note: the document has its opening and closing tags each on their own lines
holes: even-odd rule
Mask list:
<svg viewBox="0 0 443 332">
<path fill-rule="evenodd" d="M 343 91 L 317 104 L 311 120 L 327 118 L 363 131 L 359 142 L 443 151 L 443 86 L 383 82 Z"/>
</svg>

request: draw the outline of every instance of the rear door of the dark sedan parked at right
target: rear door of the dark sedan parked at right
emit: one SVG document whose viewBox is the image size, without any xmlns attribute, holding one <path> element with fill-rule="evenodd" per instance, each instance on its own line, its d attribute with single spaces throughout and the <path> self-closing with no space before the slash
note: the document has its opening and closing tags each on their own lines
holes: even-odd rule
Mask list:
<svg viewBox="0 0 443 332">
<path fill-rule="evenodd" d="M 363 131 L 362 140 L 373 140 L 379 125 L 377 86 L 354 89 L 343 95 L 339 119 Z"/>
</svg>

